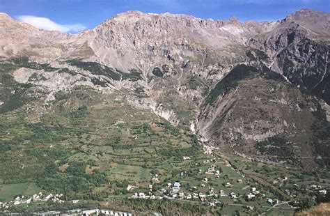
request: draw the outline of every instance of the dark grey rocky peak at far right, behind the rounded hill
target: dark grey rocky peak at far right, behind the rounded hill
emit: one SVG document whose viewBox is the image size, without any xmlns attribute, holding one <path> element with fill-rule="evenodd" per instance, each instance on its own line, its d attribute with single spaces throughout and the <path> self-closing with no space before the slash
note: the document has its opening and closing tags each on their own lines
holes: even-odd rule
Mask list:
<svg viewBox="0 0 330 216">
<path fill-rule="evenodd" d="M 249 45 L 268 54 L 269 66 L 289 82 L 329 104 L 329 22 L 328 13 L 299 10 Z"/>
</svg>

